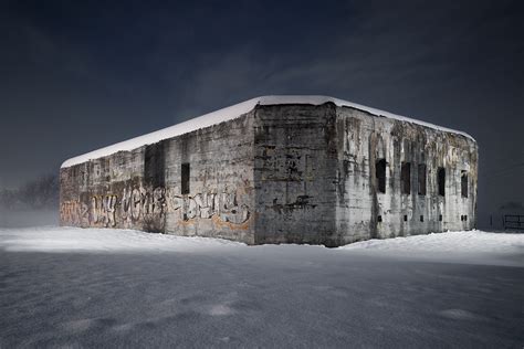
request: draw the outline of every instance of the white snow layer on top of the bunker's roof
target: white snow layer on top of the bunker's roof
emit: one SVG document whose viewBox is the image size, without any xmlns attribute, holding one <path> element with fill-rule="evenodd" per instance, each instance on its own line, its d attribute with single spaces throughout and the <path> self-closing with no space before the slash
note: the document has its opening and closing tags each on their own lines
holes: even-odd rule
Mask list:
<svg viewBox="0 0 524 349">
<path fill-rule="evenodd" d="M 180 135 L 184 135 L 184 134 L 187 134 L 187 133 L 200 129 L 200 128 L 205 128 L 205 127 L 217 125 L 217 124 L 220 124 L 220 123 L 223 123 L 223 121 L 228 121 L 228 120 L 238 118 L 241 115 L 253 110 L 256 105 L 281 105 L 281 104 L 282 105 L 284 105 L 284 104 L 322 105 L 322 104 L 325 104 L 325 103 L 328 103 L 328 102 L 332 102 L 337 106 L 352 107 L 352 108 L 355 108 L 355 109 L 360 109 L 360 110 L 368 112 L 373 115 L 384 116 L 384 117 L 398 119 L 398 120 L 402 120 L 402 121 L 408 121 L 408 123 L 413 123 L 413 124 L 422 125 L 422 126 L 426 126 L 426 127 L 431 127 L 431 128 L 434 128 L 434 129 L 439 129 L 439 130 L 442 130 L 442 131 L 459 134 L 459 135 L 462 135 L 462 136 L 465 136 L 468 138 L 473 139 L 473 137 L 471 137 L 470 135 L 468 135 L 465 133 L 462 133 L 462 131 L 459 131 L 459 130 L 454 130 L 454 129 L 437 126 L 437 125 L 433 125 L 433 124 L 416 120 L 416 119 L 412 119 L 412 118 L 409 118 L 409 117 L 406 117 L 406 116 L 396 115 L 396 114 L 392 114 L 392 113 L 389 113 L 389 112 L 384 112 L 384 110 L 380 110 L 380 109 L 367 107 L 365 105 L 360 105 L 360 104 L 356 104 L 356 103 L 352 103 L 352 102 L 347 102 L 347 101 L 344 101 L 344 99 L 338 99 L 338 98 L 334 98 L 334 97 L 329 97 L 329 96 L 302 96 L 302 95 L 261 96 L 261 97 L 252 98 L 252 99 L 232 105 L 232 106 L 223 108 L 223 109 L 219 109 L 219 110 L 216 110 L 216 112 L 212 112 L 212 113 L 209 113 L 209 114 L 205 114 L 205 115 L 199 116 L 199 117 L 195 117 L 195 118 L 189 119 L 187 121 L 184 121 L 184 123 L 170 126 L 170 127 L 166 127 L 166 128 L 159 129 L 159 130 L 150 133 L 150 134 L 146 134 L 146 135 L 143 135 L 143 136 L 139 136 L 139 137 L 135 137 L 135 138 L 132 138 L 132 139 L 128 139 L 128 140 L 124 140 L 124 141 L 117 142 L 115 145 L 104 147 L 104 148 L 93 150 L 93 151 L 86 152 L 84 155 L 71 158 L 69 160 L 65 160 L 62 163 L 62 168 L 70 167 L 70 166 L 73 166 L 73 165 L 77 165 L 77 163 L 82 163 L 82 162 L 88 161 L 91 159 L 97 159 L 97 158 L 101 158 L 101 157 L 105 157 L 105 156 L 115 154 L 117 151 L 133 150 L 133 149 L 139 148 L 139 147 L 145 146 L 145 145 L 149 145 L 149 144 L 160 141 L 163 139 L 168 139 L 168 138 L 180 136 Z"/>
</svg>

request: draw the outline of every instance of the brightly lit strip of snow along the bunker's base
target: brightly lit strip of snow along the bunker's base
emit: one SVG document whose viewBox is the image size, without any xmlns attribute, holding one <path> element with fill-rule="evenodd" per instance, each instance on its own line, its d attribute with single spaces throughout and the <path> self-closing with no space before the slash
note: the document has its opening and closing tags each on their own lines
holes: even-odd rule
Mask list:
<svg viewBox="0 0 524 349">
<path fill-rule="evenodd" d="M 304 251 L 323 248 L 323 246 L 286 245 L 287 248 L 293 248 L 292 246 Z M 272 247 L 275 246 L 247 246 L 243 243 L 221 239 L 185 237 L 134 230 L 56 226 L 0 229 L 0 250 L 13 252 L 195 253 L 224 248 L 268 250 Z M 333 250 L 333 253 L 336 252 L 431 260 L 434 262 L 524 266 L 524 234 L 483 231 L 447 232 L 368 240 Z"/>
</svg>

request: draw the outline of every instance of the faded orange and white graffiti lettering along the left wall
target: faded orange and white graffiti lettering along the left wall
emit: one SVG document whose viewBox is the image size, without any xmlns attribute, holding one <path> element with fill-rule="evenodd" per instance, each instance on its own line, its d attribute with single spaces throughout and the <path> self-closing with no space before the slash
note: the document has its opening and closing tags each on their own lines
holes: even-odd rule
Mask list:
<svg viewBox="0 0 524 349">
<path fill-rule="evenodd" d="M 125 188 L 120 195 L 108 193 L 91 195 L 88 200 L 61 203 L 62 222 L 82 226 L 133 228 L 146 223 L 161 228 L 167 213 L 178 214 L 180 222 L 213 219 L 213 222 L 242 224 L 250 218 L 247 204 L 239 203 L 237 192 L 202 192 L 180 195 L 174 190 Z"/>
</svg>

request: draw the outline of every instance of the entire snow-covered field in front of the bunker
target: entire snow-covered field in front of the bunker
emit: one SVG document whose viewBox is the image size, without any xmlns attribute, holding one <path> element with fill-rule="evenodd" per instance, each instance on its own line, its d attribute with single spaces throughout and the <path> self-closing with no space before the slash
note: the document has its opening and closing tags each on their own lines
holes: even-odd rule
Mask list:
<svg viewBox="0 0 524 349">
<path fill-rule="evenodd" d="M 339 248 L 0 229 L 0 348 L 516 347 L 524 234 Z"/>
</svg>

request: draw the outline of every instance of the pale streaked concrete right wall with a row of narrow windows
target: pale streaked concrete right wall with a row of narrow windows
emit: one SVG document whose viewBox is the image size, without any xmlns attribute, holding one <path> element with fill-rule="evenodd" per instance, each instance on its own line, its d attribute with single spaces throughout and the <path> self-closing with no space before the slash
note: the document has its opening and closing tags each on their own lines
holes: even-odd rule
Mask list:
<svg viewBox="0 0 524 349">
<path fill-rule="evenodd" d="M 470 230 L 476 222 L 476 144 L 464 136 L 417 124 L 337 108 L 337 204 L 340 243 Z M 386 160 L 386 193 L 377 188 L 376 163 Z M 410 163 L 410 190 L 401 166 Z M 427 167 L 426 194 L 418 192 L 418 165 Z M 446 169 L 444 195 L 438 169 Z M 468 198 L 461 176 L 468 176 Z"/>
</svg>

